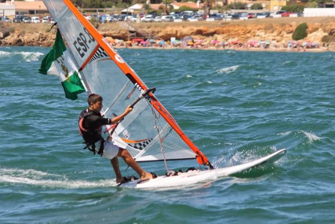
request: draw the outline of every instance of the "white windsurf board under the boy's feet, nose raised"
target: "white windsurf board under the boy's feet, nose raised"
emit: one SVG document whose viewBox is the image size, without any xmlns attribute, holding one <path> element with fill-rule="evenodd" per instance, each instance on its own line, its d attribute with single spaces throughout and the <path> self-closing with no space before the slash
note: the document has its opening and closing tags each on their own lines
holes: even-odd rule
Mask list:
<svg viewBox="0 0 335 224">
<path fill-rule="evenodd" d="M 216 180 L 231 174 L 251 169 L 264 163 L 272 164 L 280 159 L 286 153 L 286 149 L 277 150 L 274 153 L 258 158 L 252 162 L 241 164 L 232 167 L 218 168 L 214 170 L 193 170 L 186 173 L 180 173 L 177 176 L 158 176 L 150 180 L 133 180 L 130 182 L 122 183 L 120 187 L 127 188 L 165 188 L 165 187 L 179 187 L 189 186 L 199 182 L 208 180 Z"/>
</svg>

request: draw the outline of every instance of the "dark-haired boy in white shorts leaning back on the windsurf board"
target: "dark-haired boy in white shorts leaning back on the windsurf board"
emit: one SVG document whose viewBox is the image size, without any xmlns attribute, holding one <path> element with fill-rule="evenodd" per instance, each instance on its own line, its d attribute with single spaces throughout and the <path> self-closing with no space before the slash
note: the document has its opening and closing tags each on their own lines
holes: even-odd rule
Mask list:
<svg viewBox="0 0 335 224">
<path fill-rule="evenodd" d="M 100 113 L 103 108 L 103 98 L 101 95 L 95 93 L 90 94 L 87 103 L 89 107 L 83 110 L 79 116 L 79 132 L 85 141 L 85 148 L 88 148 L 93 154 L 97 153 L 111 160 L 116 175 L 116 183 L 124 183 L 127 181 L 127 179 L 121 175 L 118 157 L 123 158 L 124 162 L 135 170 L 142 180 L 155 178 L 156 175 L 143 170 L 126 149 L 119 148 L 102 137 L 103 125 L 117 123 L 130 113 L 132 108 L 128 106 L 121 115 L 110 119 L 103 118 Z"/>
</svg>

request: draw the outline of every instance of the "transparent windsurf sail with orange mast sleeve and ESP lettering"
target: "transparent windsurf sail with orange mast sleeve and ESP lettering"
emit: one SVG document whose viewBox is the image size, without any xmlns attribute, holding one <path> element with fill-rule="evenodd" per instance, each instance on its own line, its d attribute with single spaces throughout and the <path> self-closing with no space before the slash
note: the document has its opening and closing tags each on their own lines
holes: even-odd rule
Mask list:
<svg viewBox="0 0 335 224">
<path fill-rule="evenodd" d="M 148 87 L 70 0 L 43 2 L 79 65 L 89 93 L 102 95 L 106 117 L 121 114 Z M 138 162 L 196 158 L 200 165 L 212 167 L 152 92 L 111 130 L 114 144 L 126 148 Z"/>
</svg>

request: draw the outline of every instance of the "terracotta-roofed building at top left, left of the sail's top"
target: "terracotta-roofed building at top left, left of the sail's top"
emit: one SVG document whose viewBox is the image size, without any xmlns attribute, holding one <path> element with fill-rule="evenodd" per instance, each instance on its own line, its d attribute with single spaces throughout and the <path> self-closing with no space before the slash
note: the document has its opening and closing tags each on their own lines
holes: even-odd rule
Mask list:
<svg viewBox="0 0 335 224">
<path fill-rule="evenodd" d="M 49 13 L 42 1 L 15 1 L 14 5 L 15 15 Z"/>
</svg>

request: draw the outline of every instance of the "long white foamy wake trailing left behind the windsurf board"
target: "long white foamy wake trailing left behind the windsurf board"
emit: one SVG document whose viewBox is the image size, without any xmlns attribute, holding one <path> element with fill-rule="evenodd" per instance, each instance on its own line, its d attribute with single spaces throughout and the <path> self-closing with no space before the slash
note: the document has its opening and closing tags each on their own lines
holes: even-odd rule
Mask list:
<svg viewBox="0 0 335 224">
<path fill-rule="evenodd" d="M 49 177 L 49 178 L 48 178 Z M 51 179 L 57 177 L 57 179 Z M 48 179 L 47 179 L 48 178 Z M 43 187 L 59 187 L 59 188 L 91 188 L 91 187 L 110 187 L 115 185 L 113 180 L 68 180 L 65 176 L 58 174 L 49 174 L 37 170 L 22 169 L 0 169 L 1 183 L 20 183 Z"/>
</svg>

